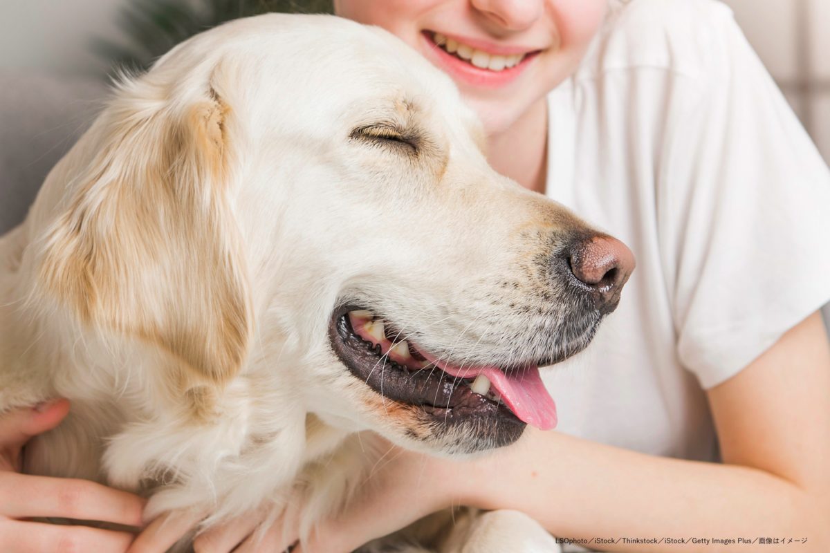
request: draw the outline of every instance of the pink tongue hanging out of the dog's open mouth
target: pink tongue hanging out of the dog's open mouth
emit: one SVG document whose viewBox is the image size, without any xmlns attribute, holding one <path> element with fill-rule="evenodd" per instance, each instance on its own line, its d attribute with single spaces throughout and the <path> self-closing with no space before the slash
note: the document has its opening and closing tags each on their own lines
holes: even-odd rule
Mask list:
<svg viewBox="0 0 830 553">
<path fill-rule="evenodd" d="M 556 426 L 556 404 L 544 387 L 538 366 L 510 371 L 508 375 L 497 366 L 457 367 L 437 360 L 429 361 L 452 376 L 486 376 L 491 386 L 496 388 L 501 400 L 520 420 L 540 430 L 550 430 Z"/>
</svg>

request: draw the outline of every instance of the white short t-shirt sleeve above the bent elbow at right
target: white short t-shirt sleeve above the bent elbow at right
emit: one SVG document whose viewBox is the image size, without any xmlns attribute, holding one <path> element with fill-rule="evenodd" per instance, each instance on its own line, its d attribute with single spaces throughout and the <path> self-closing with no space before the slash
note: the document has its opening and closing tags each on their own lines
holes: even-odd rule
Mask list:
<svg viewBox="0 0 830 553">
<path fill-rule="evenodd" d="M 830 173 L 732 17 L 681 78 L 657 169 L 681 363 L 708 389 L 830 300 Z"/>
</svg>

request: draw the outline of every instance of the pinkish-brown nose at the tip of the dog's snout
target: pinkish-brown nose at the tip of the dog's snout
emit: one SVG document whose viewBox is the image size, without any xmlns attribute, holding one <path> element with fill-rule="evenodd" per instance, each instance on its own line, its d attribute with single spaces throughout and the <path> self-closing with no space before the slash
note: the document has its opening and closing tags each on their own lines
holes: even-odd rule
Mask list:
<svg viewBox="0 0 830 553">
<path fill-rule="evenodd" d="M 563 253 L 579 288 L 588 289 L 598 311 L 605 314 L 617 308 L 636 264 L 631 250 L 616 238 L 594 235 L 574 240 Z"/>
</svg>

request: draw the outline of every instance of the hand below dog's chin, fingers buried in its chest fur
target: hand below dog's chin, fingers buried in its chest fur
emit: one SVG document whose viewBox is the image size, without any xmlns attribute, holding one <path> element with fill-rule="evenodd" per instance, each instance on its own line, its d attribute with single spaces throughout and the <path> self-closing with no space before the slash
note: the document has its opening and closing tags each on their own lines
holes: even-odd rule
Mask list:
<svg viewBox="0 0 830 553">
<path fill-rule="evenodd" d="M 386 452 L 374 463 L 361 491 L 344 514 L 321 521 L 310 541 L 297 544 L 302 512 L 301 492 L 288 502 L 286 512 L 268 525 L 266 508 L 211 528 L 196 538 L 196 553 L 348 553 L 375 538 L 386 536 L 452 504 L 463 503 L 467 486 L 474 482 L 466 463 L 400 449 L 383 441 Z M 198 517 L 171 515 L 159 518 L 142 532 L 130 553 L 164 551 L 193 526 Z M 257 531 L 262 525 L 264 531 Z M 153 546 L 150 546 L 150 544 Z"/>
</svg>

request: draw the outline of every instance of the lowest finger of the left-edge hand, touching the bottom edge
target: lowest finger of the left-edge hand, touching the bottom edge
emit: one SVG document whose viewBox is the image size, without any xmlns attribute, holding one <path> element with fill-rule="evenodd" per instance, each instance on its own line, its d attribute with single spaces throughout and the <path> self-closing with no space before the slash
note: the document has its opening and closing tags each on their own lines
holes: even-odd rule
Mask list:
<svg viewBox="0 0 830 553">
<path fill-rule="evenodd" d="M 106 551 L 121 553 L 133 541 L 133 534 L 89 526 L 64 526 L 41 522 L 0 522 L 0 551 L 42 553 L 43 551 Z"/>
</svg>

